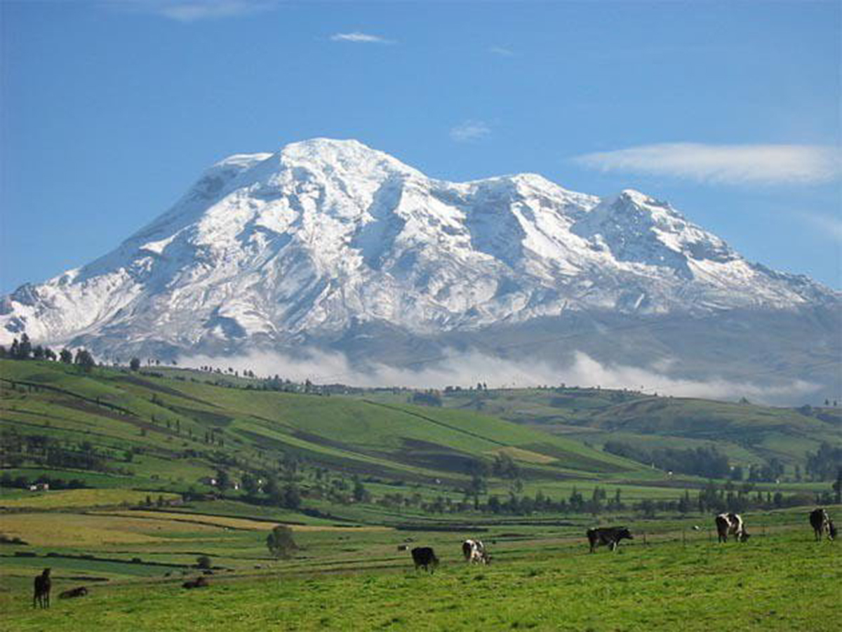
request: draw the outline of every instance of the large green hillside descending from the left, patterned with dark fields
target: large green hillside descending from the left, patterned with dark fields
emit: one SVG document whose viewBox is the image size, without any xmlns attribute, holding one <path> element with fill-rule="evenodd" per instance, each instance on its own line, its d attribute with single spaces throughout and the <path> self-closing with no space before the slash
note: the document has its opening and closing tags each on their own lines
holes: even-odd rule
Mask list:
<svg viewBox="0 0 842 632">
<path fill-rule="evenodd" d="M 461 481 L 477 460 L 501 451 L 533 478 L 641 470 L 477 412 L 225 388 L 190 380 L 187 371 L 174 378 L 116 369 L 84 374 L 63 364 L 3 361 L 0 377 L 5 431 L 49 436 L 74 449 L 85 443 L 104 461 L 100 470 L 134 486 L 141 479 L 184 489 L 221 463 L 270 469 L 281 455 L 395 481 Z M 37 449 L 23 447 L 24 463 Z"/>
</svg>

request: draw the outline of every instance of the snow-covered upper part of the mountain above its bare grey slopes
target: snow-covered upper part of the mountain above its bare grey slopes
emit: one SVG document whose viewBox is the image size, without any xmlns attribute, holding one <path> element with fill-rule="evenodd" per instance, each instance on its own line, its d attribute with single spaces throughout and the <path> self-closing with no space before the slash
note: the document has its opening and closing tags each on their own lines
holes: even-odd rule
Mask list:
<svg viewBox="0 0 842 632">
<path fill-rule="evenodd" d="M 314 139 L 210 167 L 114 252 L 0 302 L 0 344 L 236 353 L 417 338 L 568 316 L 838 305 L 749 263 L 668 203 L 600 199 L 535 174 L 450 183 L 357 141 Z"/>
</svg>

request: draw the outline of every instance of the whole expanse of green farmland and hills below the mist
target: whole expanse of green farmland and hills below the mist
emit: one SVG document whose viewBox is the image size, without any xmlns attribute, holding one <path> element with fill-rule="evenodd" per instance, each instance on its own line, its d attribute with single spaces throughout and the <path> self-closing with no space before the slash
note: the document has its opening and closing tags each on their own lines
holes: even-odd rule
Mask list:
<svg viewBox="0 0 842 632">
<path fill-rule="evenodd" d="M 744 512 L 754 538 L 719 546 L 711 513 L 695 505 L 708 481 L 600 449 L 605 438 L 714 444 L 734 463 L 782 454 L 792 464 L 819 440 L 839 444 L 833 411 L 595 389 L 461 391 L 430 407 L 406 391 L 255 384 L 0 361 L 0 629 L 822 630 L 839 619 L 839 546 L 814 543 L 805 513 L 828 481 L 755 484 L 745 493 L 765 505 L 754 507 L 783 492 L 802 507 Z M 493 472 L 502 457 L 516 477 Z M 481 465 L 474 502 L 489 504 L 474 507 Z M 220 492 L 205 480 L 219 470 L 234 481 L 275 476 L 301 491 L 300 505 Z M 39 477 L 58 485 L 20 483 Z M 70 483 L 82 488 L 56 489 Z M 589 498 L 597 487 L 625 505 L 594 515 L 490 509 L 492 497 Z M 694 502 L 679 513 L 685 491 Z M 830 508 L 839 519 L 842 507 Z M 584 531 L 598 523 L 626 524 L 636 539 L 589 555 Z M 288 559 L 266 547 L 277 524 L 298 547 Z M 491 566 L 461 561 L 468 536 L 489 545 Z M 439 571 L 413 571 L 402 544 L 433 545 Z M 185 591 L 202 556 L 211 586 Z M 56 593 L 91 594 L 33 611 L 32 578 L 47 566 Z"/>
</svg>

